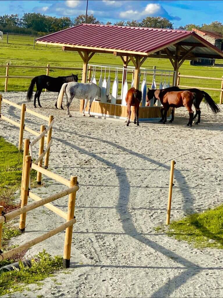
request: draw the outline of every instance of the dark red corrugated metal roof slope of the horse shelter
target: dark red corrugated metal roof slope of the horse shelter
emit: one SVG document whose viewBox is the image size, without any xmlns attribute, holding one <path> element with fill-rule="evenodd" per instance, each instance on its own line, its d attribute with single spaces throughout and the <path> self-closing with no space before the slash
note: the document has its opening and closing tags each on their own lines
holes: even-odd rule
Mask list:
<svg viewBox="0 0 223 298">
<path fill-rule="evenodd" d="M 191 31 L 80 24 L 37 41 L 147 53 L 189 35 Z"/>
</svg>

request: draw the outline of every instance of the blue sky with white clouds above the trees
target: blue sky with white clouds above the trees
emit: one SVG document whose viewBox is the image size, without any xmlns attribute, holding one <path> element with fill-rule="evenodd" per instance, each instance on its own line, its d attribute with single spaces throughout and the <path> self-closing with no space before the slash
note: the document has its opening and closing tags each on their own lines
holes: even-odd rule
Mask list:
<svg viewBox="0 0 223 298">
<path fill-rule="evenodd" d="M 40 12 L 52 16 L 76 17 L 85 14 L 86 0 L 0 0 L 0 15 Z M 88 14 L 100 21 L 142 20 L 146 16 L 169 18 L 174 27 L 185 24 L 201 25 L 212 21 L 223 22 L 223 1 L 201 0 L 89 0 Z"/>
</svg>

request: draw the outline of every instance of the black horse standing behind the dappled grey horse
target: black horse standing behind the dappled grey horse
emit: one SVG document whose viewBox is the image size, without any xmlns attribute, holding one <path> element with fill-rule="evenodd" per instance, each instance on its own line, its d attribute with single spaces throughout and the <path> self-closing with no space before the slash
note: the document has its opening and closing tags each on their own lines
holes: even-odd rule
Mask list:
<svg viewBox="0 0 223 298">
<path fill-rule="evenodd" d="M 26 94 L 26 100 L 28 101 L 32 100 L 32 91 L 36 84 L 37 90 L 34 95 L 34 107 L 36 108 L 36 98 L 37 98 L 38 105 L 40 108 L 42 108 L 42 106 L 40 105 L 40 94 L 43 88 L 47 89 L 48 91 L 58 92 L 59 94 L 60 89 L 64 83 L 77 82 L 77 81 L 78 81 L 77 75 L 73 75 L 73 74 L 67 77 L 49 77 L 47 75 L 39 75 L 32 79 Z M 55 106 L 57 108 L 57 103 L 55 104 Z M 61 105 L 61 108 L 63 109 L 62 105 Z"/>
</svg>

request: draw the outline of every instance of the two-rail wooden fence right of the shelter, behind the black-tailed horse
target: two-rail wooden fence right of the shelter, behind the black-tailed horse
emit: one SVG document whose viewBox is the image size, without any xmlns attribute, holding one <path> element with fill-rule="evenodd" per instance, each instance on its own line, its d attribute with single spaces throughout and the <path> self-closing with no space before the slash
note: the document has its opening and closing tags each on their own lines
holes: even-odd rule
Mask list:
<svg viewBox="0 0 223 298">
<path fill-rule="evenodd" d="M 221 88 L 208 88 L 208 87 L 200 87 L 200 86 L 185 86 L 185 85 L 180 85 L 180 78 L 190 78 L 190 79 L 203 79 L 203 80 L 217 80 L 221 81 Z M 180 72 L 178 72 L 178 77 L 177 77 L 177 87 L 179 88 L 197 88 L 197 89 L 202 89 L 202 90 L 212 90 L 212 91 L 220 91 L 220 100 L 219 104 L 222 104 L 222 99 L 223 99 L 223 76 L 222 78 L 219 77 L 199 77 L 199 76 L 193 76 L 193 75 L 181 75 Z"/>
</svg>

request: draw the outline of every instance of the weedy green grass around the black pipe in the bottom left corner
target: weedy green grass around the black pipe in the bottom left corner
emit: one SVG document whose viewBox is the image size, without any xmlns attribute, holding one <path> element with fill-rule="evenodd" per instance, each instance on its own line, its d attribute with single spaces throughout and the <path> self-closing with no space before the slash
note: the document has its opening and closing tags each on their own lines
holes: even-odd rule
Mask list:
<svg viewBox="0 0 223 298">
<path fill-rule="evenodd" d="M 43 250 L 43 252 L 40 252 L 36 258 L 32 260 L 31 268 L 24 267 L 20 262 L 20 271 L 14 270 L 0 274 L 0 296 L 16 291 L 22 292 L 29 284 L 36 283 L 38 286 L 42 285 L 42 283 L 39 283 L 40 280 L 53 276 L 54 271 L 62 268 L 62 266 L 62 257 L 52 257 Z"/>
</svg>

